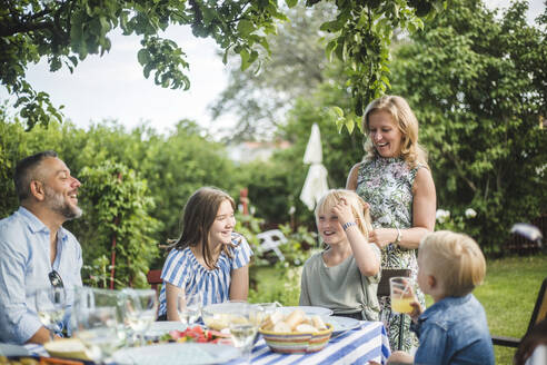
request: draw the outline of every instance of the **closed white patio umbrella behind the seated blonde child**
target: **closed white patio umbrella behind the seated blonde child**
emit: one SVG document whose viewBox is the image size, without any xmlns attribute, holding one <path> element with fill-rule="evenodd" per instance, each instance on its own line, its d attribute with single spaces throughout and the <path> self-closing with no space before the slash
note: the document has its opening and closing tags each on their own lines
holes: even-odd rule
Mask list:
<svg viewBox="0 0 547 365">
<path fill-rule="evenodd" d="M 310 167 L 304 181 L 300 200 L 306 204 L 309 210 L 314 210 L 317 201 L 329 189 L 327 185 L 328 172 L 322 165 L 321 135 L 317 124 L 311 126 L 311 135 L 304 154 L 304 164 L 310 164 Z"/>
</svg>

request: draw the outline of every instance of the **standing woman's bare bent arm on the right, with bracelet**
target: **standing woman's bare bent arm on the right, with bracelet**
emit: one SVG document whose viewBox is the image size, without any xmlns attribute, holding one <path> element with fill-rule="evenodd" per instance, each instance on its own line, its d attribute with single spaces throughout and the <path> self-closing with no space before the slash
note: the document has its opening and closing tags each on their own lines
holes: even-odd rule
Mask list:
<svg viewBox="0 0 547 365">
<path fill-rule="evenodd" d="M 437 195 L 429 169 L 418 169 L 414 180 L 412 196 L 412 227 L 400 229 L 401 239 L 399 246 L 405 248 L 418 248 L 421 238 L 435 229 Z M 396 228 L 378 228 L 370 234 L 369 239 L 381 248 L 395 243 L 398 234 Z"/>
</svg>

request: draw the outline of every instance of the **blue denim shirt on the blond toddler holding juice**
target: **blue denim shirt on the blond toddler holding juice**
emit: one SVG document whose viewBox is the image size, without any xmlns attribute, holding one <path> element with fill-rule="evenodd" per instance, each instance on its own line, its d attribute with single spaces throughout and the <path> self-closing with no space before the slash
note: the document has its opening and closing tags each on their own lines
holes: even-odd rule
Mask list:
<svg viewBox="0 0 547 365">
<path fill-rule="evenodd" d="M 411 329 L 420 341 L 415 364 L 494 365 L 485 309 L 473 294 L 437 302 Z"/>
</svg>

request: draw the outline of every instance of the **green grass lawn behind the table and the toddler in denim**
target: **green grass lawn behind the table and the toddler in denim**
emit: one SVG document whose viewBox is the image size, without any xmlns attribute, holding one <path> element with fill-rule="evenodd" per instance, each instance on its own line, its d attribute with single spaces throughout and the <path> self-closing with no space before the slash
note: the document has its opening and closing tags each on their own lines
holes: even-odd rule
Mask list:
<svg viewBox="0 0 547 365">
<path fill-rule="evenodd" d="M 276 274 L 272 267 L 257 270 L 258 295 L 252 302 L 272 302 L 274 292 L 279 294 L 282 278 Z M 476 288 L 474 294 L 485 307 L 491 334 L 518 338 L 525 334 L 539 286 L 546 276 L 547 255 L 487 262 L 485 284 Z M 284 305 L 298 305 L 298 290 L 295 292 L 277 300 Z M 431 298 L 427 299 L 430 305 Z M 514 348 L 495 346 L 494 352 L 496 364 L 513 364 Z"/>
</svg>

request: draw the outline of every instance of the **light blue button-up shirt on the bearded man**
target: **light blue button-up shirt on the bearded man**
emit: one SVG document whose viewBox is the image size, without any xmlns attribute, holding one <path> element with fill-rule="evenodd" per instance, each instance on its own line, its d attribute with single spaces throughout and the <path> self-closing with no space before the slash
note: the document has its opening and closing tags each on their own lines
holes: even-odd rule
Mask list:
<svg viewBox="0 0 547 365">
<path fill-rule="evenodd" d="M 20 207 L 0 220 L 0 342 L 23 344 L 41 327 L 33 290 L 50 287 L 54 269 L 64 288 L 81 286 L 81 247 L 64 228 L 57 234 L 57 256 L 50 260 L 49 228 Z"/>
</svg>

